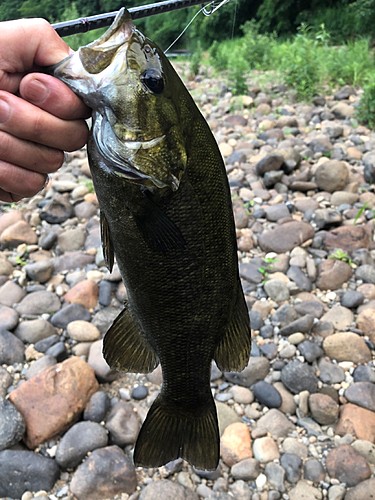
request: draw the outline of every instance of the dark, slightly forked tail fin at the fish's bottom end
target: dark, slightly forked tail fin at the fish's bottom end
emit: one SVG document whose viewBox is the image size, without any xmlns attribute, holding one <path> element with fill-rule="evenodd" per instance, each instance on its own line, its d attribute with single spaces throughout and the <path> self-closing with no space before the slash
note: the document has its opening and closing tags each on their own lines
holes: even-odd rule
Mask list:
<svg viewBox="0 0 375 500">
<path fill-rule="evenodd" d="M 215 470 L 219 463 L 220 436 L 213 399 L 207 407 L 173 413 L 160 394 L 151 406 L 134 450 L 134 463 L 161 467 L 181 457 L 197 469 Z"/>
</svg>

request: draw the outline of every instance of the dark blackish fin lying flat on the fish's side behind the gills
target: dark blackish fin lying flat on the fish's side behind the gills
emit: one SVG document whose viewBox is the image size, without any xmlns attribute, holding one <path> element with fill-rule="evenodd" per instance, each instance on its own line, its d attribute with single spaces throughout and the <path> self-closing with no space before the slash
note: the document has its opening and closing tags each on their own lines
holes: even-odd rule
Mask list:
<svg viewBox="0 0 375 500">
<path fill-rule="evenodd" d="M 134 220 L 147 246 L 156 252 L 169 253 L 183 250 L 185 240 L 176 224 L 144 195 L 146 210 L 142 215 L 134 214 Z"/>
</svg>

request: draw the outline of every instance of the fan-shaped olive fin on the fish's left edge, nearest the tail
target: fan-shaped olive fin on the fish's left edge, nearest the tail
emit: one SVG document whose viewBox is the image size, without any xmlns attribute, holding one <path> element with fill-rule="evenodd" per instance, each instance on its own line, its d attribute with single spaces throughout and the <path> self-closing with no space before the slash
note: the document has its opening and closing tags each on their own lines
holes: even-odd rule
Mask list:
<svg viewBox="0 0 375 500">
<path fill-rule="evenodd" d="M 128 304 L 106 333 L 103 354 L 111 368 L 126 372 L 149 373 L 159 363 Z"/>
</svg>

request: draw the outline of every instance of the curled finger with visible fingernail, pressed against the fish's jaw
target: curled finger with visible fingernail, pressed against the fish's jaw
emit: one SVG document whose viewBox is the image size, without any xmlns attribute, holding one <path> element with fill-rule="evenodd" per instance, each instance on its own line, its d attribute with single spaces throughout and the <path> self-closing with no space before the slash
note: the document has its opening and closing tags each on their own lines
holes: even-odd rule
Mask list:
<svg viewBox="0 0 375 500">
<path fill-rule="evenodd" d="M 91 109 L 65 83 L 50 75 L 26 75 L 20 83 L 20 93 L 27 101 L 63 120 L 91 116 Z"/>
</svg>

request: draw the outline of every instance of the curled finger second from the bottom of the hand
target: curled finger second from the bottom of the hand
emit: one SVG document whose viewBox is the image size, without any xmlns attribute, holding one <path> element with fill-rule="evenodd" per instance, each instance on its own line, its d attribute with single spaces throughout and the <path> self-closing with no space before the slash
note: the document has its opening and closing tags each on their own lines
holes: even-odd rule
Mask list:
<svg viewBox="0 0 375 500">
<path fill-rule="evenodd" d="M 61 167 L 64 153 L 0 131 L 0 159 L 34 172 L 48 174 Z"/>
</svg>

